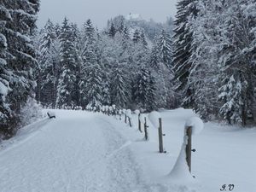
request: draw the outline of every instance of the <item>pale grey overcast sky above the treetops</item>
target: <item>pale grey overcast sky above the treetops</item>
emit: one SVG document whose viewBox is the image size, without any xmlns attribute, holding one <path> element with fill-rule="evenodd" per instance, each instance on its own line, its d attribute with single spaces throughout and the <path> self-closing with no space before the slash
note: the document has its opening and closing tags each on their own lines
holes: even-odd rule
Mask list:
<svg viewBox="0 0 256 192">
<path fill-rule="evenodd" d="M 166 21 L 176 14 L 177 0 L 41 0 L 38 27 L 50 19 L 61 22 L 65 16 L 81 26 L 91 19 L 99 28 L 116 15 L 140 14 L 143 19 Z"/>
</svg>

